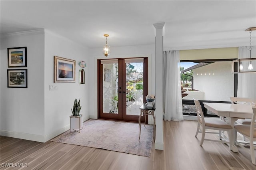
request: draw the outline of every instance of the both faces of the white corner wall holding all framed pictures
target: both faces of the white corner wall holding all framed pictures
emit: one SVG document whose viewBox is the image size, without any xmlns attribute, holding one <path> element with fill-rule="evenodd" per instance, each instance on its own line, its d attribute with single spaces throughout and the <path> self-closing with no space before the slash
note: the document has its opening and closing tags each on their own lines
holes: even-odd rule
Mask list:
<svg viewBox="0 0 256 170">
<path fill-rule="evenodd" d="M 7 48 L 27 47 L 28 88 L 7 88 Z M 76 82 L 54 83 L 54 55 L 76 60 Z M 1 36 L 1 125 L 3 136 L 46 142 L 69 129 L 74 99 L 80 99 L 83 120 L 89 119 L 88 69 L 79 85 L 78 62 L 88 49 L 57 34 L 41 30 Z M 20 67 L 21 68 L 21 67 Z M 49 85 L 58 90 L 50 91 Z M 4 107 L 3 107 L 4 106 Z"/>
</svg>

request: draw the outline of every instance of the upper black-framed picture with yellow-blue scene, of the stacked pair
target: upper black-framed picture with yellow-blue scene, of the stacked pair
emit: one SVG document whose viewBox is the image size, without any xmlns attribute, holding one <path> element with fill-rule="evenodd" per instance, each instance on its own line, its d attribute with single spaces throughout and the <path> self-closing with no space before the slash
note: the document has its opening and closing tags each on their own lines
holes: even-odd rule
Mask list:
<svg viewBox="0 0 256 170">
<path fill-rule="evenodd" d="M 8 67 L 27 67 L 27 47 L 8 48 Z"/>
</svg>

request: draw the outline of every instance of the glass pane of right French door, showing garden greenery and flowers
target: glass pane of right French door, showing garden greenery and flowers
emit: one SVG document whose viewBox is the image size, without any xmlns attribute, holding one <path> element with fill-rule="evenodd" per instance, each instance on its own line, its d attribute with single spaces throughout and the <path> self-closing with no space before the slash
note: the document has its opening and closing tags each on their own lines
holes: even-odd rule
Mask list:
<svg viewBox="0 0 256 170">
<path fill-rule="evenodd" d="M 140 115 L 143 104 L 143 62 L 126 63 L 126 115 Z"/>
</svg>

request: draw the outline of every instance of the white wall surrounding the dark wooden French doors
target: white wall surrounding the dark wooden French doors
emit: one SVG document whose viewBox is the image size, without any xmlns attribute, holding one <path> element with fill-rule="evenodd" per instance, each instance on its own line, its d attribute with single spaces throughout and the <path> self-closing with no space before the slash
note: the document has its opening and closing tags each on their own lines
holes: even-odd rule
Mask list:
<svg viewBox="0 0 256 170">
<path fill-rule="evenodd" d="M 110 47 L 111 48 L 111 47 Z M 127 47 L 113 47 L 111 54 L 105 57 L 102 54 L 102 48 L 91 49 L 91 57 L 88 60 L 88 69 L 90 70 L 89 79 L 89 95 L 92 97 L 90 100 L 90 118 L 98 118 L 97 108 L 97 59 L 111 59 L 111 58 L 128 58 L 128 57 L 148 57 L 148 94 L 155 94 L 155 45 L 140 45 L 140 46 L 127 46 Z M 149 118 L 149 122 L 152 122 Z"/>
</svg>

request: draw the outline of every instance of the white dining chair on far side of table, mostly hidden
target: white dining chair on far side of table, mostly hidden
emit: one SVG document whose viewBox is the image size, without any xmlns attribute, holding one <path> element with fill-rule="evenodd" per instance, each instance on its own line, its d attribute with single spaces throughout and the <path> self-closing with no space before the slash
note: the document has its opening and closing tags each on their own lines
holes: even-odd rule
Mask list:
<svg viewBox="0 0 256 170">
<path fill-rule="evenodd" d="M 230 97 L 230 101 L 232 104 L 240 104 L 240 105 L 254 105 L 254 100 L 247 98 L 247 97 Z M 236 124 L 238 125 L 250 125 L 251 119 L 238 119 L 236 121 Z M 235 132 L 235 139 L 236 139 L 237 133 Z M 246 141 L 246 137 L 243 136 L 243 140 Z"/>
</svg>

